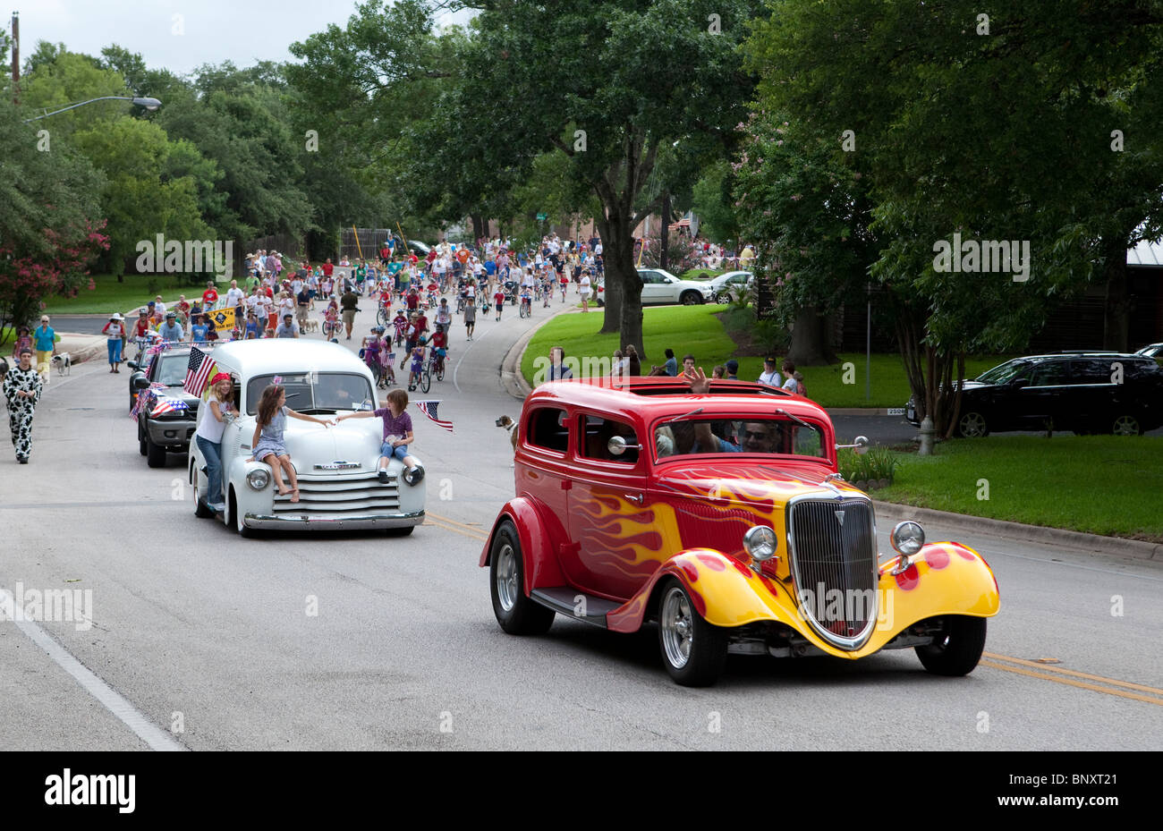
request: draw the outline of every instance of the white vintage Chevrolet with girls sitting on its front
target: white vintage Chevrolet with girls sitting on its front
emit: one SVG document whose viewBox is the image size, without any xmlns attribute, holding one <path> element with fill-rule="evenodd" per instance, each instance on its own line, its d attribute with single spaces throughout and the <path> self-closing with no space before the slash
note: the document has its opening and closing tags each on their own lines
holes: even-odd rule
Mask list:
<svg viewBox="0 0 1163 831">
<path fill-rule="evenodd" d="M 255 414 L 269 385 L 286 387 L 287 407 L 320 417 L 376 409 L 371 371 L 338 344 L 304 339 L 238 341 L 214 350 L 219 372 L 234 380 L 235 406 L 222 434 L 220 514 L 228 526 L 249 537 L 255 529 L 385 529 L 407 535 L 424 521 L 424 481 L 404 482 L 404 464 L 392 459 L 388 482 L 380 483 L 377 464 L 383 437 L 379 418 L 354 418 L 323 428 L 288 418 L 285 442 L 299 478 L 299 502 L 280 496 L 269 465 L 251 456 Z M 209 407 L 200 407 L 201 417 Z M 419 457 L 418 457 L 419 460 Z M 206 501 L 206 460 L 190 443 L 187 463 L 194 514 L 215 516 Z"/>
</svg>

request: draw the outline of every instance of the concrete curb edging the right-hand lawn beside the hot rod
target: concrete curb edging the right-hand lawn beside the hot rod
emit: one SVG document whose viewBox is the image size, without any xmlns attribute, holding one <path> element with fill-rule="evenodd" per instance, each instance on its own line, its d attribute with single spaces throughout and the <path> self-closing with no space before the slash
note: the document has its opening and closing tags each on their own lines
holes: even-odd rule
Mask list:
<svg viewBox="0 0 1163 831">
<path fill-rule="evenodd" d="M 1026 525 L 1020 522 L 989 520 L 968 514 L 934 510 L 933 508 L 918 508 L 898 502 L 882 502 L 880 500 L 873 500 L 872 504 L 878 517 L 883 516 L 896 522 L 901 520 L 920 520 L 922 522 L 949 525 L 958 531 L 984 532 L 1007 539 L 1020 539 L 1027 543 L 1056 544 L 1087 553 L 1133 557 L 1136 560 L 1163 565 L 1163 543 L 1105 537 L 1100 533 L 1068 531 L 1062 528 L 1047 528 L 1044 525 Z"/>
</svg>

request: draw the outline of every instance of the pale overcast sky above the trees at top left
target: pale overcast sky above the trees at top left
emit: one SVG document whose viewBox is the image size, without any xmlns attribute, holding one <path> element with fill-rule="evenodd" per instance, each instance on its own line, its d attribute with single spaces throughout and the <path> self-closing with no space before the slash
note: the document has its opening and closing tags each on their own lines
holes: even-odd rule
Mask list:
<svg viewBox="0 0 1163 831">
<path fill-rule="evenodd" d="M 10 12 L 20 12 L 22 60 L 37 41 L 88 55 L 117 43 L 141 52 L 150 69 L 184 74 L 223 60 L 291 60 L 291 43 L 328 23 L 344 27 L 355 7 L 355 0 L 13 0 L 0 28 L 9 30 Z M 468 19 L 458 13 L 441 22 Z"/>
</svg>

